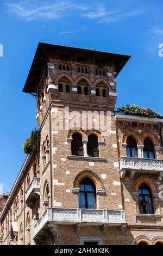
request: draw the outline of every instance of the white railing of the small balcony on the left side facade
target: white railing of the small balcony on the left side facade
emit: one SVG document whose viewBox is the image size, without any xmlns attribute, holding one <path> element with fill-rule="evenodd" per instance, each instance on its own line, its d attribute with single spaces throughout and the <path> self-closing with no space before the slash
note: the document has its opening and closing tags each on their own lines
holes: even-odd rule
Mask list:
<svg viewBox="0 0 163 256">
<path fill-rule="evenodd" d="M 37 196 L 40 195 L 40 178 L 38 177 L 34 177 L 29 187 L 27 188 L 25 195 L 26 201 L 32 200 L 34 194 L 37 194 Z"/>
</svg>

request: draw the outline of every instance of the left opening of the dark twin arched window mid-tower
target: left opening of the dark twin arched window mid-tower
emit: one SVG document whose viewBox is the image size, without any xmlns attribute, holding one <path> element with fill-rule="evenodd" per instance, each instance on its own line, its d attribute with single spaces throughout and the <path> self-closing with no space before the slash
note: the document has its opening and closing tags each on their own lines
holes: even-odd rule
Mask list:
<svg viewBox="0 0 163 256">
<path fill-rule="evenodd" d="M 83 156 L 82 136 L 79 133 L 72 135 L 71 152 L 75 156 Z"/>
</svg>

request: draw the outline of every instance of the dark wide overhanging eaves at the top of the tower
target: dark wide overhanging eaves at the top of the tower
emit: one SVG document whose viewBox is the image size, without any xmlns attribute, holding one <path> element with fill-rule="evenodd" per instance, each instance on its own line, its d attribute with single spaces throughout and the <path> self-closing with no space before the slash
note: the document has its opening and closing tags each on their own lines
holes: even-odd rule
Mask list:
<svg viewBox="0 0 163 256">
<path fill-rule="evenodd" d="M 117 73 L 116 76 L 119 74 L 123 66 L 130 59 L 130 56 L 122 55 L 122 54 L 101 52 L 101 51 L 61 46 L 61 45 L 45 44 L 45 43 L 39 42 L 32 65 L 29 70 L 26 83 L 23 88 L 24 93 L 36 93 L 36 88 L 40 82 L 40 77 L 42 75 L 43 68 L 47 64 L 49 58 L 53 58 L 55 50 L 64 50 L 69 52 L 83 52 L 87 54 L 94 54 L 95 57 L 98 55 L 101 57 L 110 58 L 110 60 L 113 59 L 115 64 L 115 71 Z"/>
</svg>

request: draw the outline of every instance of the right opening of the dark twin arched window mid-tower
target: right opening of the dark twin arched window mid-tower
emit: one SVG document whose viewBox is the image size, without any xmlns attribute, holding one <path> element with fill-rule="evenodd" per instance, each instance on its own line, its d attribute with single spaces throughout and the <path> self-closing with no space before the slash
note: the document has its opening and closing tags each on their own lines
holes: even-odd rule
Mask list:
<svg viewBox="0 0 163 256">
<path fill-rule="evenodd" d="M 87 154 L 93 157 L 99 157 L 98 139 L 95 135 L 89 135 L 87 142 Z"/>
</svg>

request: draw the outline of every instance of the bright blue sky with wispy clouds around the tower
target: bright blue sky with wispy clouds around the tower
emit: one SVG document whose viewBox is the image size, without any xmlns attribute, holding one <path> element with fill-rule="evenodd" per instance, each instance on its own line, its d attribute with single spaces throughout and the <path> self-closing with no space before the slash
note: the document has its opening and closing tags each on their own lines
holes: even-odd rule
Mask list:
<svg viewBox="0 0 163 256">
<path fill-rule="evenodd" d="M 135 103 L 163 114 L 161 0 L 3 1 L 0 3 L 0 186 L 9 191 L 36 126 L 36 101 L 22 93 L 38 42 L 131 55 L 116 79 L 116 107 Z"/>
</svg>

